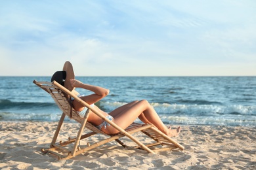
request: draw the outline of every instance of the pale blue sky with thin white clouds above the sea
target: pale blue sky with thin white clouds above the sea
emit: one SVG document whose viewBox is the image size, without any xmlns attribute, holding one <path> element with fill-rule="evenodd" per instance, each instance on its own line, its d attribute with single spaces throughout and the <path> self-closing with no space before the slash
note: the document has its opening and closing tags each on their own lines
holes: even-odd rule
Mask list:
<svg viewBox="0 0 256 170">
<path fill-rule="evenodd" d="M 0 76 L 255 76 L 254 0 L 0 1 Z"/>
</svg>

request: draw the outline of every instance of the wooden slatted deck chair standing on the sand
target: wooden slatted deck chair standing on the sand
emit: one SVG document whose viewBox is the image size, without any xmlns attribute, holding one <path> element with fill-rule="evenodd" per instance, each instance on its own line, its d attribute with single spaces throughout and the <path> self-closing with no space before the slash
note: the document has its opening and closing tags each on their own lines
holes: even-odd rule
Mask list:
<svg viewBox="0 0 256 170">
<path fill-rule="evenodd" d="M 60 120 L 58 122 L 58 126 L 56 127 L 56 131 L 53 136 L 53 140 L 51 142 L 51 145 L 49 148 L 42 148 L 41 151 L 45 154 L 53 154 L 54 156 L 57 156 L 59 160 L 68 160 L 74 156 L 77 156 L 79 154 L 85 153 L 93 148 L 96 148 L 97 146 L 100 146 L 102 144 L 109 143 L 111 141 L 116 141 L 117 143 L 121 144 L 123 147 L 131 147 L 124 144 L 122 141 L 120 141 L 121 137 L 127 137 L 128 139 L 131 139 L 136 145 L 135 148 L 146 150 L 149 153 L 156 154 L 156 152 L 160 152 L 163 150 L 172 150 L 174 148 L 178 148 L 180 150 L 184 150 L 184 146 L 177 143 L 170 137 L 167 137 L 164 133 L 162 133 L 160 130 L 152 126 L 152 124 L 139 124 L 139 123 L 133 123 L 131 126 L 127 127 L 126 129 L 122 129 L 121 127 L 114 124 L 114 122 L 111 122 L 110 120 L 106 119 L 100 112 L 97 112 L 93 107 L 91 107 L 88 103 L 83 101 L 81 98 L 77 97 L 73 93 L 71 93 L 68 89 L 64 88 L 64 86 L 58 84 L 58 82 L 37 82 L 36 80 L 33 80 L 33 83 L 35 83 L 37 86 L 45 90 L 47 93 L 49 93 L 55 103 L 58 105 L 60 110 L 62 110 L 62 116 L 60 117 Z M 95 112 L 97 116 L 102 118 L 102 120 L 108 122 L 110 126 L 115 127 L 119 133 L 116 135 L 108 135 L 99 129 L 97 129 L 93 124 L 90 122 L 87 122 L 87 118 L 89 116 L 88 110 L 85 113 L 85 116 L 81 118 L 77 112 L 72 108 L 72 103 L 69 101 L 68 97 L 74 97 L 75 100 L 79 101 L 82 105 L 88 108 L 88 110 L 91 110 Z M 77 135 L 74 139 L 69 139 L 67 141 L 60 141 L 60 143 L 56 143 L 56 139 L 58 137 L 58 134 L 60 132 L 60 129 L 62 127 L 62 123 L 64 122 L 65 116 L 68 116 L 69 118 L 75 120 L 79 124 L 81 124 L 79 131 L 77 131 Z M 83 134 L 84 128 L 89 129 L 89 133 Z M 150 144 L 143 144 L 139 140 L 135 139 L 133 136 L 133 133 L 142 132 L 145 134 L 146 137 L 150 137 L 153 141 L 153 143 Z M 97 143 L 93 144 L 87 144 L 85 146 L 80 146 L 79 141 L 82 139 L 89 139 L 92 135 L 95 134 L 102 134 L 105 135 L 106 138 L 102 141 L 99 141 Z M 148 141 L 148 140 L 147 140 Z"/>
</svg>

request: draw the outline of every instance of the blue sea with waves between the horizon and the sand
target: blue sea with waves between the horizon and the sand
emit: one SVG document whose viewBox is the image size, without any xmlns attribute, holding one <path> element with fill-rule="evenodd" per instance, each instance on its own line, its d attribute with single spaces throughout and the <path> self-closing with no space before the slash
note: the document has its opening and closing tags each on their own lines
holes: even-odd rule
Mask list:
<svg viewBox="0 0 256 170">
<path fill-rule="evenodd" d="M 256 126 L 256 76 L 76 78 L 110 89 L 96 103 L 106 112 L 147 99 L 165 124 Z M 58 121 L 62 112 L 48 93 L 33 84 L 34 79 L 51 77 L 0 76 L 0 120 Z"/>
</svg>

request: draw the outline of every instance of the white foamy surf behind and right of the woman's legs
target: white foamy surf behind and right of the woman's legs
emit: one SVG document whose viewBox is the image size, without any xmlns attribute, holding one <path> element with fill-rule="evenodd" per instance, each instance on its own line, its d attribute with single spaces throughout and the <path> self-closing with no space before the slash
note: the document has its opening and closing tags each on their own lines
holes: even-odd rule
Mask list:
<svg viewBox="0 0 256 170">
<path fill-rule="evenodd" d="M 100 106 L 110 111 L 125 104 L 102 102 Z M 256 106 L 171 105 L 168 103 L 150 103 L 150 105 L 158 112 L 165 124 L 256 125 Z"/>
</svg>

